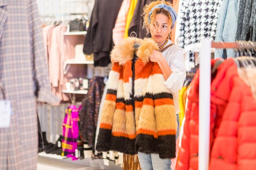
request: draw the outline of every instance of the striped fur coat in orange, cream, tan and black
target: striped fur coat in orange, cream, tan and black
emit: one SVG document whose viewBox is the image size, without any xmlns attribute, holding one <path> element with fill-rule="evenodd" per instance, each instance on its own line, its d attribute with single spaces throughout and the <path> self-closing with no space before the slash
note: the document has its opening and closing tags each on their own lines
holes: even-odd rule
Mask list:
<svg viewBox="0 0 256 170">
<path fill-rule="evenodd" d="M 111 52 L 115 64 L 109 74 L 96 150 L 159 153 L 162 159 L 173 158 L 177 129 L 173 95 L 162 83 L 165 80 L 158 64 L 149 60 L 158 46 L 152 39 L 137 38 L 141 46 L 135 54 L 134 42 L 134 38 L 123 40 Z"/>
</svg>

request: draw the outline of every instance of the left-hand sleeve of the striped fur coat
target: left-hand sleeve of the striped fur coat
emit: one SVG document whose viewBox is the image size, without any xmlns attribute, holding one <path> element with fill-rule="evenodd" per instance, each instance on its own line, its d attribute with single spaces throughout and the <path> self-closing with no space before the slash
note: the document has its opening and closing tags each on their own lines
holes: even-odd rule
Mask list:
<svg viewBox="0 0 256 170">
<path fill-rule="evenodd" d="M 106 100 L 103 103 L 102 115 L 100 119 L 99 135 L 96 144 L 96 150 L 99 152 L 107 152 L 110 150 L 110 138 L 113 125 L 113 117 L 116 110 L 117 102 L 117 86 L 120 77 L 120 69 L 118 63 L 114 63 L 108 77 L 108 90 Z"/>
</svg>

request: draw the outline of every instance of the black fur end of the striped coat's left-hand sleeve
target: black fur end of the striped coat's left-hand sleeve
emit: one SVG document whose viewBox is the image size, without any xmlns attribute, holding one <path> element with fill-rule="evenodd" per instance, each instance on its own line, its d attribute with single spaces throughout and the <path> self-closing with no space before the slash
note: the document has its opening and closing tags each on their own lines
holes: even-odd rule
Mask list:
<svg viewBox="0 0 256 170">
<path fill-rule="evenodd" d="M 99 152 L 108 152 L 110 150 L 110 137 L 111 130 L 100 128 L 96 150 Z"/>
</svg>

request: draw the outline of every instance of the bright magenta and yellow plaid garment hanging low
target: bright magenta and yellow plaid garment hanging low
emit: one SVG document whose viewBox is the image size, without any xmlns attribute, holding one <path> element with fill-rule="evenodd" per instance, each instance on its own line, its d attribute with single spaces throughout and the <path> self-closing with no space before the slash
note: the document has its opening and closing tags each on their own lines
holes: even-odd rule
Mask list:
<svg viewBox="0 0 256 170">
<path fill-rule="evenodd" d="M 77 138 L 79 132 L 79 112 L 75 105 L 71 105 L 66 109 L 66 116 L 63 121 L 63 140 L 62 140 L 62 156 L 75 157 L 77 149 Z"/>
</svg>

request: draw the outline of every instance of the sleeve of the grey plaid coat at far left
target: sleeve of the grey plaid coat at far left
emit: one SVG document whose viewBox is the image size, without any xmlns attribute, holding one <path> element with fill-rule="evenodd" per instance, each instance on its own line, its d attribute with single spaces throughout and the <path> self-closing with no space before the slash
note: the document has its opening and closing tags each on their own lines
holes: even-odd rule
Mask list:
<svg viewBox="0 0 256 170">
<path fill-rule="evenodd" d="M 31 36 L 31 51 L 34 59 L 34 78 L 37 90 L 37 101 L 58 104 L 58 99 L 51 92 L 47 59 L 43 43 L 43 31 L 36 0 L 31 0 L 29 8 L 29 30 Z"/>
</svg>

